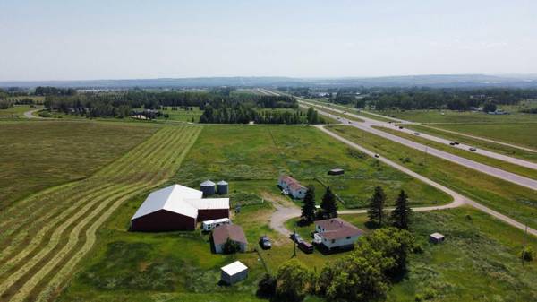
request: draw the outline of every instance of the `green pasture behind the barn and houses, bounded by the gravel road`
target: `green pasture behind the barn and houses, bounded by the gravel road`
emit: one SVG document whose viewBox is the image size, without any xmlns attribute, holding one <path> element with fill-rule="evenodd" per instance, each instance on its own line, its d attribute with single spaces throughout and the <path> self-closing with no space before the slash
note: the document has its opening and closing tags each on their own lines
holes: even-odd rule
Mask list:
<svg viewBox="0 0 537 302">
<path fill-rule="evenodd" d="M 344 168 L 345 175 L 328 176 L 331 168 Z M 175 179 L 193 187 L 205 179 L 224 179 L 230 183 L 230 193 L 236 191 L 235 203 L 242 198 L 259 200 L 256 190 L 277 194 L 280 174 L 295 177 L 303 186 L 315 186 L 318 203 L 324 194 L 321 184 L 331 186 L 344 200 L 342 208 L 365 206 L 379 184 L 385 186 L 390 202 L 401 189 L 407 191 L 413 205 L 451 200 L 447 194 L 309 126 L 207 125 Z"/>
</svg>

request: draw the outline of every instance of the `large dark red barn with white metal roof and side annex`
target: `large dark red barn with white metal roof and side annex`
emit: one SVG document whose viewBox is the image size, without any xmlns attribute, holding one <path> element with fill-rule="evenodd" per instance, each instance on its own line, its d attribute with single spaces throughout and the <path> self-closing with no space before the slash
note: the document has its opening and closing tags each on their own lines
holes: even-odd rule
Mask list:
<svg viewBox="0 0 537 302">
<path fill-rule="evenodd" d="M 194 230 L 198 220 L 229 218 L 229 198 L 201 198 L 201 191 L 173 185 L 149 194 L 131 219 L 134 231 Z"/>
</svg>

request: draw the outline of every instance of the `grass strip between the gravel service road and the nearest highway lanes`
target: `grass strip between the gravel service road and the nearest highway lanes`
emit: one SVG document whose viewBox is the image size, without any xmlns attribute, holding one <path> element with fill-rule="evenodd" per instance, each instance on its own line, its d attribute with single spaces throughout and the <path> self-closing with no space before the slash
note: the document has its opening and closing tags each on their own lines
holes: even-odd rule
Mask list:
<svg viewBox="0 0 537 302">
<path fill-rule="evenodd" d="M 531 189 L 517 186 L 496 177 L 490 177 L 447 160 L 428 156 L 422 151 L 375 134 L 348 126 L 328 126 L 345 138 L 359 143 L 406 168 L 472 198 L 532 228 L 537 228 L 537 195 Z"/>
</svg>

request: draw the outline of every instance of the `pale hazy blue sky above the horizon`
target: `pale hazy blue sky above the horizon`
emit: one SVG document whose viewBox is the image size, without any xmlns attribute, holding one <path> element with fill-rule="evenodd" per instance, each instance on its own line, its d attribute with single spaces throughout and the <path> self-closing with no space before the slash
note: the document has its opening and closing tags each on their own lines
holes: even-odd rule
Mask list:
<svg viewBox="0 0 537 302">
<path fill-rule="evenodd" d="M 537 73 L 537 1 L 0 1 L 0 81 Z"/>
</svg>

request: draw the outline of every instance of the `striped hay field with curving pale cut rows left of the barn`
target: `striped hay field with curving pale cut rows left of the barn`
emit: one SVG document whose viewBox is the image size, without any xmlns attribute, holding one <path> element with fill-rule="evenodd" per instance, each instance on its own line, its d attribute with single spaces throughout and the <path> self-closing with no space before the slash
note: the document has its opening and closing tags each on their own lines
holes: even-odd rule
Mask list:
<svg viewBox="0 0 537 302">
<path fill-rule="evenodd" d="M 200 130 L 165 127 L 90 177 L 33 194 L 4 209 L 0 298 L 55 298 L 96 242 L 98 228 L 122 203 L 172 177 Z"/>
</svg>

